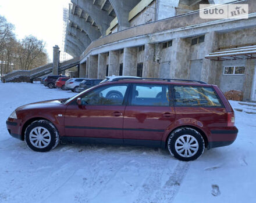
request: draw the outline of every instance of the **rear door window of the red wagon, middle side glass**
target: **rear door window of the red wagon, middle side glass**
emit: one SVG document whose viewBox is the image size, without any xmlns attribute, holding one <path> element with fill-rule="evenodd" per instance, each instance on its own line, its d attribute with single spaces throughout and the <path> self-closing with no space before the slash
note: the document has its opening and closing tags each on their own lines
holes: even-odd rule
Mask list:
<svg viewBox="0 0 256 203">
<path fill-rule="evenodd" d="M 169 106 L 168 85 L 133 85 L 131 105 L 133 106 Z"/>
</svg>

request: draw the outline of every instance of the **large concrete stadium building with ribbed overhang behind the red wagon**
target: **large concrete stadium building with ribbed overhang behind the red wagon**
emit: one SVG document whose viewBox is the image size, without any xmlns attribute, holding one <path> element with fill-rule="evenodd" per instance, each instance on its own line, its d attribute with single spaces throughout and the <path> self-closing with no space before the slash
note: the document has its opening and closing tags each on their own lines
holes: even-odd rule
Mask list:
<svg viewBox="0 0 256 203">
<path fill-rule="evenodd" d="M 65 50 L 80 77 L 194 79 L 256 100 L 256 1 L 71 0 Z M 248 19 L 201 19 L 200 3 L 248 4 Z"/>
</svg>

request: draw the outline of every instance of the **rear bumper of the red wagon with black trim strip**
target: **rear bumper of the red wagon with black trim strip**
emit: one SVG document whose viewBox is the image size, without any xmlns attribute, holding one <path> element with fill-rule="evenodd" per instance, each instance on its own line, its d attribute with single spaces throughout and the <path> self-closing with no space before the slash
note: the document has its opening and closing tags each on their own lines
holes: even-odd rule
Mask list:
<svg viewBox="0 0 256 203">
<path fill-rule="evenodd" d="M 208 142 L 207 148 L 229 146 L 236 140 L 237 134 L 238 129 L 236 126 L 211 130 L 211 139 Z"/>
</svg>

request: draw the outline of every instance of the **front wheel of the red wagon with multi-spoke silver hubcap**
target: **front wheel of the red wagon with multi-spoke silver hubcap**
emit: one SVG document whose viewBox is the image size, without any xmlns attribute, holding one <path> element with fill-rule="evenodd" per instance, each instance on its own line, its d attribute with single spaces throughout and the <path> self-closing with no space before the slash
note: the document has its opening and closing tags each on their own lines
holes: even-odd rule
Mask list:
<svg viewBox="0 0 256 203">
<path fill-rule="evenodd" d="M 50 151 L 59 144 L 59 133 L 49 121 L 34 121 L 26 128 L 25 142 L 33 151 Z"/>
</svg>

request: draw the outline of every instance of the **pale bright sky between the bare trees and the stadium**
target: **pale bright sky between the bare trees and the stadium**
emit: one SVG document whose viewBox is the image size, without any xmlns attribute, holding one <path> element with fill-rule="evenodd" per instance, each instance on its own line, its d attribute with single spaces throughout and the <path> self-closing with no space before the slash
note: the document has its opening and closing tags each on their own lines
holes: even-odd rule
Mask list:
<svg viewBox="0 0 256 203">
<path fill-rule="evenodd" d="M 68 8 L 69 3 L 70 0 L 0 0 L 0 15 L 15 26 L 17 39 L 33 35 L 46 42 L 52 61 L 52 47 L 62 46 L 63 7 Z"/>
</svg>

